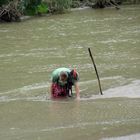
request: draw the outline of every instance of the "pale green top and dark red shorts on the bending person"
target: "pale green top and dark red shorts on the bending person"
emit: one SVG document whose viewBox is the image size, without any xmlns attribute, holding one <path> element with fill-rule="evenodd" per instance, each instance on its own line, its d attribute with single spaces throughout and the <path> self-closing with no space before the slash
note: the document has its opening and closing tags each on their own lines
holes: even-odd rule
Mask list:
<svg viewBox="0 0 140 140">
<path fill-rule="evenodd" d="M 67 75 L 66 82 L 60 80 L 60 74 L 64 72 Z M 78 81 L 78 74 L 76 79 L 71 75 L 71 70 L 68 68 L 58 68 L 52 73 L 52 97 L 66 97 L 72 92 L 72 86 Z M 72 94 L 72 93 L 71 93 Z"/>
</svg>

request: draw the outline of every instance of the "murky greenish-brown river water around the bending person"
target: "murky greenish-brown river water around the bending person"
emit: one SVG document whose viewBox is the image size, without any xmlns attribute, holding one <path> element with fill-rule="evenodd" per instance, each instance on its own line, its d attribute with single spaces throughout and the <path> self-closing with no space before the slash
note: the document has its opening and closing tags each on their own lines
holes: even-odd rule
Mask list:
<svg viewBox="0 0 140 140">
<path fill-rule="evenodd" d="M 50 74 L 62 66 L 77 68 L 80 101 L 49 99 Z M 140 6 L 0 24 L 0 139 L 122 140 L 139 133 Z"/>
</svg>

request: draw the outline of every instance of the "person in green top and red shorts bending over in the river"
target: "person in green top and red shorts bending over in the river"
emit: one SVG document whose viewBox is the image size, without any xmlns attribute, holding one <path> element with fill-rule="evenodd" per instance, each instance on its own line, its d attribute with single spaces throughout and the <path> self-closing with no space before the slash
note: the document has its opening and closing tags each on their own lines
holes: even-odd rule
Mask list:
<svg viewBox="0 0 140 140">
<path fill-rule="evenodd" d="M 58 68 L 52 72 L 51 96 L 52 98 L 72 97 L 72 86 L 75 87 L 76 97 L 79 93 L 79 74 L 75 69 Z"/>
</svg>

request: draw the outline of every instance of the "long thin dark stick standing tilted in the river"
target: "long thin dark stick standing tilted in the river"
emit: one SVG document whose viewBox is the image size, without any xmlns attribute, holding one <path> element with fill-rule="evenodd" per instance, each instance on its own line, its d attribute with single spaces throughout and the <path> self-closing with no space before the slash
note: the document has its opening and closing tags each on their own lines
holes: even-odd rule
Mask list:
<svg viewBox="0 0 140 140">
<path fill-rule="evenodd" d="M 101 88 L 100 78 L 99 78 L 98 71 L 97 71 L 97 68 L 96 68 L 96 65 L 95 65 L 95 61 L 94 61 L 94 59 L 93 59 L 93 56 L 92 56 L 92 53 L 91 53 L 90 48 L 88 48 L 88 51 L 89 51 L 89 55 L 90 55 L 90 57 L 91 57 L 91 60 L 92 60 L 93 66 L 94 66 L 94 68 L 95 68 L 96 76 L 97 76 L 98 83 L 99 83 L 100 93 L 101 93 L 101 95 L 103 95 L 102 88 Z"/>
</svg>

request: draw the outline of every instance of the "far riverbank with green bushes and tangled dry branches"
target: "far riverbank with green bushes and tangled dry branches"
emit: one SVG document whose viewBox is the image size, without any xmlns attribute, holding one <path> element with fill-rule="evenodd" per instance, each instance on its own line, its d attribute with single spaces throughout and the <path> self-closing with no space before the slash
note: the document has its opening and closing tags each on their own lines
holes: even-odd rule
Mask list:
<svg viewBox="0 0 140 140">
<path fill-rule="evenodd" d="M 33 16 L 46 16 L 46 15 L 53 15 L 53 14 L 63 14 L 69 11 L 76 11 L 76 10 L 83 10 L 86 8 L 116 8 L 117 10 L 120 9 L 120 5 L 128 5 L 130 2 L 121 2 L 121 1 L 113 1 L 110 0 L 108 2 L 95 2 L 95 1 L 71 1 L 66 2 L 49 2 L 47 0 L 40 0 L 38 5 L 32 5 L 34 3 L 28 3 L 30 6 L 23 6 L 22 3 L 11 1 L 7 5 L 0 5 L 0 22 L 11 22 L 11 21 L 24 21 Z M 23 7 L 22 7 L 23 6 Z M 24 9 L 24 10 L 21 10 Z"/>
</svg>

